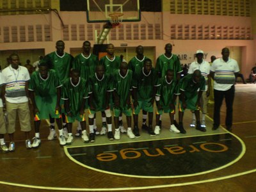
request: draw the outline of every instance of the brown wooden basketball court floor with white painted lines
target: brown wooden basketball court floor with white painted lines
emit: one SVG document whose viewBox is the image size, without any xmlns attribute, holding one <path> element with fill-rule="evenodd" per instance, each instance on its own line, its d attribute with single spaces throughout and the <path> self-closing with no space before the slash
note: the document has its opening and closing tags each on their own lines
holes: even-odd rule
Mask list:
<svg viewBox="0 0 256 192">
<path fill-rule="evenodd" d="M 234 153 L 240 154 L 237 161 L 227 164 L 223 168 L 211 170 L 211 172 L 197 174 L 196 169 L 200 165 L 207 168 L 207 164 L 210 166 L 217 164 L 217 162 L 222 163 L 230 157 L 230 154 L 212 152 L 208 159 L 202 157 L 204 161 L 202 159 L 193 161 L 196 165 L 194 167 L 196 174 L 184 176 L 171 174 L 170 177 L 161 177 L 161 169 L 158 169 L 156 171 L 160 174 L 158 177 L 136 177 L 134 175 L 136 173 L 136 164 L 132 164 L 131 161 L 128 161 L 130 164 L 112 164 L 114 168 L 117 167 L 118 171 L 124 167 L 128 168 L 127 172 L 131 173 L 131 175 L 115 174 L 109 171 L 101 172 L 100 168 L 88 168 L 88 166 L 72 161 L 72 158 L 67 154 L 70 147 L 60 147 L 58 140 L 47 141 L 49 130 L 46 122 L 42 124 L 41 129 L 42 145 L 37 149 L 27 150 L 24 145 L 24 134 L 17 131 L 15 134 L 15 152 L 6 154 L 0 152 L 0 191 L 256 191 L 255 108 L 256 85 L 237 84 L 232 132 L 227 132 L 223 128 L 216 132 L 211 131 L 213 105 L 209 105 L 209 118 L 207 118 L 207 132 L 205 133 L 193 131 L 189 128 L 190 112 L 186 111 L 184 123 L 188 131 L 186 135 L 170 133 L 166 129 L 161 132 L 160 136 L 150 138 L 145 132 L 141 131 L 141 138 L 138 140 L 129 140 L 127 136 L 122 134 L 121 140 L 113 141 L 113 143 L 108 141 L 106 137 L 97 136 L 95 143 L 84 144 L 81 140 L 75 138 L 74 143 L 70 145 L 71 148 L 81 145 L 82 147 L 83 145 L 91 145 L 91 148 L 93 148 L 93 145 L 95 145 L 95 148 L 98 145 L 97 148 L 100 148 L 99 146 L 102 143 L 110 143 L 112 144 L 110 147 L 115 148 L 115 146 L 122 147 L 122 142 L 129 147 L 137 145 L 140 141 L 141 143 L 145 141 L 145 145 L 147 145 L 147 141 L 149 143 L 153 142 L 153 145 L 155 145 L 155 141 L 152 140 L 161 139 L 166 141 L 168 139 L 170 141 L 177 140 L 182 145 L 185 141 L 192 141 L 195 138 L 200 141 L 209 135 L 215 138 L 216 136 L 218 137 L 218 134 L 238 138 L 237 142 L 228 141 L 229 139 L 225 141 Z M 163 127 L 168 127 L 168 122 L 168 116 L 164 115 Z M 221 123 L 223 127 L 225 127 L 224 122 L 225 102 L 223 102 L 221 108 Z M 75 130 L 73 131 L 75 132 Z M 31 138 L 33 135 L 34 132 L 31 131 Z M 8 137 L 6 137 L 6 141 L 8 141 Z M 241 143 L 241 145 L 236 143 Z M 198 158 L 198 156 L 195 158 Z M 182 158 L 177 158 L 177 161 L 175 160 L 173 164 L 163 163 L 163 171 L 171 169 L 175 170 L 175 172 L 186 172 L 191 169 L 191 167 L 186 166 L 186 161 Z M 161 165 L 156 164 L 156 167 L 161 167 Z M 154 168 L 154 164 L 147 164 L 147 166 L 148 171 Z M 146 174 L 147 166 L 146 170 L 143 170 Z M 104 170 L 103 167 L 102 169 Z"/>
</svg>

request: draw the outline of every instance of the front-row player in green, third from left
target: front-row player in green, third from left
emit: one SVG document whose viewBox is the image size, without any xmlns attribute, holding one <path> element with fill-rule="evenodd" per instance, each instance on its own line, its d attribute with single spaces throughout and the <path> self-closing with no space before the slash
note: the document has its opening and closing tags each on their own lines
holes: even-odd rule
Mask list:
<svg viewBox="0 0 256 192">
<path fill-rule="evenodd" d="M 93 118 L 97 111 L 104 111 L 108 123 L 108 131 L 106 127 L 102 127 L 101 134 L 108 132 L 109 140 L 114 140 L 112 132 L 112 118 L 111 111 L 109 109 L 109 96 L 113 92 L 111 88 L 111 77 L 109 74 L 105 74 L 103 65 L 97 65 L 95 75 L 89 79 L 90 85 L 90 109 L 89 109 L 89 127 L 90 127 L 90 141 L 95 141 L 93 134 Z"/>
</svg>

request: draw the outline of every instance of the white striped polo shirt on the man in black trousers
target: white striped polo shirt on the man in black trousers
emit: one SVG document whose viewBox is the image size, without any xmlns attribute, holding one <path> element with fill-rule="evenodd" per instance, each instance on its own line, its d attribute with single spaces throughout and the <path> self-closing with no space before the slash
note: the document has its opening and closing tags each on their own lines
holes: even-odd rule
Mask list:
<svg viewBox="0 0 256 192">
<path fill-rule="evenodd" d="M 214 74 L 214 90 L 227 91 L 236 83 L 235 73 L 239 72 L 236 60 L 228 58 L 225 62 L 222 58 L 213 61 L 211 71 Z"/>
</svg>

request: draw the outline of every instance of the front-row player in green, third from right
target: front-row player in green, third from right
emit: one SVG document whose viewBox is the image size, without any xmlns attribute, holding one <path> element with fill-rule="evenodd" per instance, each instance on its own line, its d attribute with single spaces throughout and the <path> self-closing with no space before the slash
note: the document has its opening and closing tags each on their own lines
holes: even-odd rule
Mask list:
<svg viewBox="0 0 256 192">
<path fill-rule="evenodd" d="M 142 129 L 148 131 L 150 136 L 156 135 L 152 129 L 152 120 L 153 120 L 153 104 L 155 100 L 157 86 L 157 74 L 156 70 L 152 68 L 152 61 L 150 59 L 144 60 L 144 65 L 140 72 L 137 72 L 133 76 L 133 86 L 132 86 L 132 95 L 133 95 L 133 121 L 134 121 L 134 135 L 136 138 L 140 138 L 140 132 L 138 128 L 138 114 L 140 110 L 143 109 L 146 111 L 146 116 L 148 112 L 148 127 L 142 126 Z M 143 119 L 144 120 L 144 119 Z M 146 123 L 146 122 L 145 122 Z M 146 125 L 146 124 L 143 124 Z"/>
</svg>

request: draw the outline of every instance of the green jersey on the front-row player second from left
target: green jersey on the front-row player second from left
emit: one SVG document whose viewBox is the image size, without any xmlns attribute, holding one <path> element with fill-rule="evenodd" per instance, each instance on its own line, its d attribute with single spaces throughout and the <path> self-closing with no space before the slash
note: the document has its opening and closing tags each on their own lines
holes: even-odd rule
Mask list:
<svg viewBox="0 0 256 192">
<path fill-rule="evenodd" d="M 71 82 L 71 78 L 68 78 L 63 83 L 61 99 L 69 100 L 70 111 L 72 111 L 73 115 L 76 115 L 81 109 L 83 99 L 87 99 L 89 97 L 88 94 L 89 88 L 85 79 L 80 77 L 79 83 L 74 85 Z"/>
</svg>

